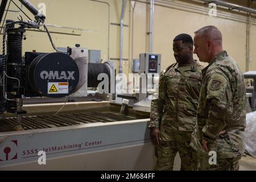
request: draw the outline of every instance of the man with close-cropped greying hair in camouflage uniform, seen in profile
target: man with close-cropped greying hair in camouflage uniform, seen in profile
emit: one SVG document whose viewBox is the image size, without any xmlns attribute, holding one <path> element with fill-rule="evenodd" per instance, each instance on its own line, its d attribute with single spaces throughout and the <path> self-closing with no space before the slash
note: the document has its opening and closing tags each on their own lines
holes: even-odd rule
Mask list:
<svg viewBox="0 0 256 182">
<path fill-rule="evenodd" d="M 214 26 L 195 32 L 195 51 L 208 62 L 191 146 L 203 170 L 238 170 L 245 151 L 246 89 L 236 61 L 222 51 L 222 35 Z M 209 153 L 210 152 L 210 153 Z M 215 161 L 214 161 L 215 158 Z"/>
</svg>

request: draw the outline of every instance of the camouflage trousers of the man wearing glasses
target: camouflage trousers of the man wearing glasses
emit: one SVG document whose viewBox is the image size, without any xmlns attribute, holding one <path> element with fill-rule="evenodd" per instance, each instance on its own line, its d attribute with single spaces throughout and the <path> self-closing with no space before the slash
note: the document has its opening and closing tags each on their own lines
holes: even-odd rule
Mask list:
<svg viewBox="0 0 256 182">
<path fill-rule="evenodd" d="M 192 132 L 175 131 L 169 133 L 168 141 L 160 141 L 159 146 L 156 147 L 157 162 L 155 170 L 173 170 L 174 159 L 179 152 L 181 159 L 180 170 L 197 170 L 198 159 L 195 150 L 189 146 L 191 142 Z"/>
</svg>

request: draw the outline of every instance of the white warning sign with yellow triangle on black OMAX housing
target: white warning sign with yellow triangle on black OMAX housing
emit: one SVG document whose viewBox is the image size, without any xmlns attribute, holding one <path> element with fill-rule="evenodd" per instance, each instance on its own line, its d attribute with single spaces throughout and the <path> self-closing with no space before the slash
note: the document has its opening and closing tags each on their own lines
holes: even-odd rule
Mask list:
<svg viewBox="0 0 256 182">
<path fill-rule="evenodd" d="M 68 94 L 68 82 L 48 82 L 48 94 Z"/>
</svg>

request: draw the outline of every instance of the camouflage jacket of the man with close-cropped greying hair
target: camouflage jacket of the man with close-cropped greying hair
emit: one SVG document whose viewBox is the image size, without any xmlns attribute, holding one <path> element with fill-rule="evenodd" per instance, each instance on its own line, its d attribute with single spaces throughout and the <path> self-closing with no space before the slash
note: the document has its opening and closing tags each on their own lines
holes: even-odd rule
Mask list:
<svg viewBox="0 0 256 182">
<path fill-rule="evenodd" d="M 218 53 L 202 70 L 197 123 L 191 146 L 204 152 L 202 139 L 208 150 L 218 158 L 236 158 L 245 151 L 246 88 L 243 74 L 236 61 L 226 51 Z M 219 135 L 220 131 L 226 133 Z"/>
</svg>

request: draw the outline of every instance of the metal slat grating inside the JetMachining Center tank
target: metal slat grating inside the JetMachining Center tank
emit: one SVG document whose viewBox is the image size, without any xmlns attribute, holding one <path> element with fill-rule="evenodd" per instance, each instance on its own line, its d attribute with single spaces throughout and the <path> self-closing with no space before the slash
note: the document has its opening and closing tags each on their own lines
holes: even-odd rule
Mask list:
<svg viewBox="0 0 256 182">
<path fill-rule="evenodd" d="M 36 115 L 22 117 L 22 127 L 24 130 L 46 129 L 61 126 L 73 126 L 93 122 L 114 122 L 137 119 L 117 112 L 84 112 L 51 115 Z M 3 118 L 0 120 L 0 132 L 13 131 L 17 125 L 16 118 Z"/>
</svg>

